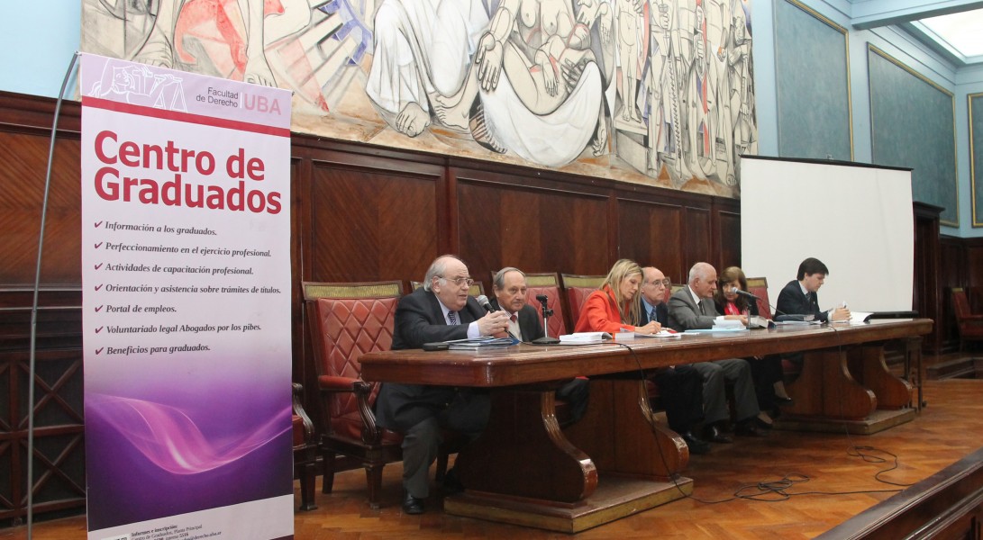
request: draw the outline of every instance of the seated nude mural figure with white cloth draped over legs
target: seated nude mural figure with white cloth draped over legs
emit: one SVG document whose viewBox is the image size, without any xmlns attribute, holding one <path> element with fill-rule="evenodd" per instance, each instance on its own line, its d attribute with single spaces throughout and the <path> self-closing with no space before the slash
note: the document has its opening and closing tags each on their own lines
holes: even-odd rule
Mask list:
<svg viewBox="0 0 983 540">
<path fill-rule="evenodd" d="M 461 91 L 435 100 L 440 121 L 470 129 L 494 151 L 543 165 L 565 165 L 588 143 L 595 155 L 604 153 L 607 84 L 592 32 L 597 27 L 601 50 L 612 52 L 613 21 L 607 3 L 582 0 L 579 7 L 503 0 Z"/>
</svg>

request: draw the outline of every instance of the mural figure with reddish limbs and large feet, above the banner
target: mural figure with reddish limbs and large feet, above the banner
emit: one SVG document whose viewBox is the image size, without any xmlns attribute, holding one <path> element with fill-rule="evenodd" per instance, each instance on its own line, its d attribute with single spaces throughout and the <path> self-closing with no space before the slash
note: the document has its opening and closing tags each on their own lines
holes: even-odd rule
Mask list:
<svg viewBox="0 0 983 540">
<path fill-rule="evenodd" d="M 313 0 L 312 0 L 313 1 Z M 235 5 L 233 9 L 230 9 Z M 194 5 L 194 7 L 192 7 Z M 263 0 L 212 0 L 193 2 L 192 0 L 163 0 L 157 10 L 146 40 L 134 55 L 134 61 L 163 68 L 177 68 L 179 49 L 177 43 L 178 21 L 184 15 L 191 19 L 205 19 L 227 36 L 230 54 L 241 67 L 242 80 L 254 84 L 275 86 L 273 72 L 266 61 L 264 47 L 290 35 L 311 22 L 311 5 L 308 0 L 281 0 L 282 12 L 266 17 Z M 188 12 L 185 9 L 188 8 Z M 235 25 L 229 20 L 231 11 L 238 11 L 242 18 L 245 46 L 237 33 Z M 190 23 L 194 25 L 195 22 Z M 242 58 L 242 55 L 245 55 Z M 227 77 L 228 74 L 218 74 Z"/>
</svg>

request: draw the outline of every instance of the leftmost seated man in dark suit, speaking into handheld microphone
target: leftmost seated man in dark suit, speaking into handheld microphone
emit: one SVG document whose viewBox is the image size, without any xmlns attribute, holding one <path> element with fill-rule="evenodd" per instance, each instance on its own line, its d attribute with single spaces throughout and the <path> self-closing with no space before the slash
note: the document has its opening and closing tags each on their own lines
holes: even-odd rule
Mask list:
<svg viewBox="0 0 983 540">
<path fill-rule="evenodd" d="M 424 285 L 396 306 L 392 350 L 420 349 L 425 343 L 505 336 L 508 318 L 486 313 L 468 296 L 474 280 L 453 255 L 437 257 Z M 376 400 L 379 426 L 403 433 L 403 512 L 423 513 L 430 494 L 428 472 L 436 459 L 440 429 L 477 437 L 488 422 L 488 394 L 467 388 L 385 383 Z"/>
</svg>

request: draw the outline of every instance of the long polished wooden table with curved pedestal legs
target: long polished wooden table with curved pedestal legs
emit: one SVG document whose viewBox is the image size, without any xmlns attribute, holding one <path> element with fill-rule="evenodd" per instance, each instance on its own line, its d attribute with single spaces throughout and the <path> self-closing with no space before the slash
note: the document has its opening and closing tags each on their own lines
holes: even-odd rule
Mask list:
<svg viewBox="0 0 983 540">
<path fill-rule="evenodd" d="M 692 492 L 681 474 L 689 451 L 655 421 L 643 372 L 803 351 L 802 373 L 788 386 L 788 416 L 872 433 L 914 416 L 911 385 L 889 371 L 884 344 L 920 341 L 931 329 L 930 319 L 875 320 L 578 347 L 384 351 L 361 363 L 367 381 L 489 389 L 489 425 L 456 461 L 468 489 L 447 498 L 445 512 L 577 532 Z M 591 379 L 588 410 L 561 430 L 552 391 L 577 376 Z"/>
</svg>

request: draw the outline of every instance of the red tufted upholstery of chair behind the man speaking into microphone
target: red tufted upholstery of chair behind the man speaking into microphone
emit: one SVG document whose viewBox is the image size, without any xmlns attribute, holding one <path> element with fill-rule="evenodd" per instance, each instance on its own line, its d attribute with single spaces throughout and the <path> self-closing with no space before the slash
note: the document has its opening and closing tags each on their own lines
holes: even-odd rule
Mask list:
<svg viewBox="0 0 983 540">
<path fill-rule="evenodd" d="M 359 357 L 392 347 L 393 319 L 402 296 L 401 282 L 304 284 L 312 344 L 318 366 L 318 385 L 362 376 Z M 369 403 L 375 403 L 378 388 Z M 326 404 L 335 434 L 362 438 L 362 418 L 354 393 L 333 392 Z"/>
</svg>

